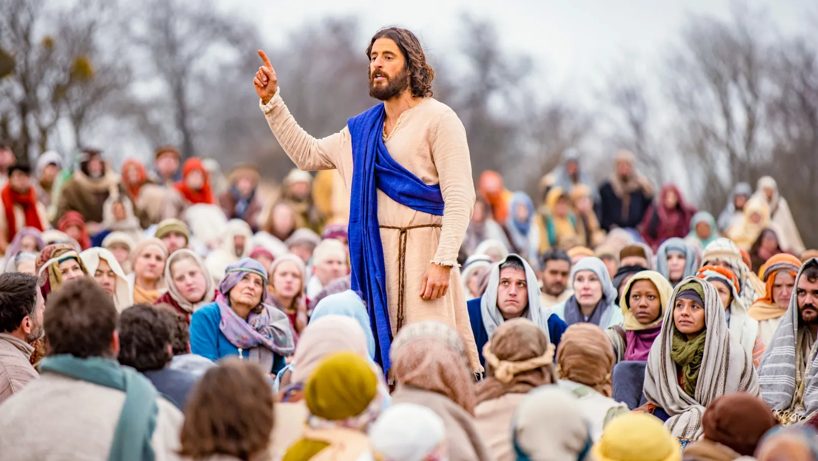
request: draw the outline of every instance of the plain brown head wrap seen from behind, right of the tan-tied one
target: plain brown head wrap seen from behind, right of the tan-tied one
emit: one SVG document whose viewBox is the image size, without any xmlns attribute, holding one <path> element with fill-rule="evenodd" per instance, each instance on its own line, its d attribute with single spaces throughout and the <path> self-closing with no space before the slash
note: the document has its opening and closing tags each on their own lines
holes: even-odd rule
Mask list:
<svg viewBox="0 0 818 461">
<path fill-rule="evenodd" d="M 605 397 L 613 395 L 611 370 L 616 362 L 608 335 L 591 323 L 575 323 L 560 339 L 557 372 L 560 379 L 585 384 Z"/>
</svg>

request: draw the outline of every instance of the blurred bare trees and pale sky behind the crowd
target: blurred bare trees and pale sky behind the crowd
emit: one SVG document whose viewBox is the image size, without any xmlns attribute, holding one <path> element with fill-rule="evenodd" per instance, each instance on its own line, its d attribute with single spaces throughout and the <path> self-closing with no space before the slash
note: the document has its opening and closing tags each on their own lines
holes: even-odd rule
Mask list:
<svg viewBox="0 0 818 461">
<path fill-rule="evenodd" d="M 627 148 L 654 184 L 718 212 L 733 184 L 772 175 L 818 246 L 808 0 L 0 0 L 0 139 L 22 162 L 93 146 L 115 166 L 173 144 L 281 180 L 292 163 L 258 109 L 256 50 L 320 137 L 375 103 L 365 50 L 393 24 L 424 44 L 475 177 L 500 171 L 537 201 L 566 149 L 601 180 Z"/>
</svg>

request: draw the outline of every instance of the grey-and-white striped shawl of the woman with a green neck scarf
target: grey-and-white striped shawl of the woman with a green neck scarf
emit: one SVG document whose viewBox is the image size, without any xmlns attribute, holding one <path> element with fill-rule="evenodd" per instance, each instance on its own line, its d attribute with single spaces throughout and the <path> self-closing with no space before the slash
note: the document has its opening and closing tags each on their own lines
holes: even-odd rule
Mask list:
<svg viewBox="0 0 818 461">
<path fill-rule="evenodd" d="M 702 437 L 702 414 L 718 397 L 730 392 L 748 392 L 758 395 L 758 377 L 753 361 L 737 339 L 727 330 L 727 321 L 718 291 L 707 281 L 688 277 L 673 291 L 672 299 L 694 282 L 700 286 L 704 300 L 703 361 L 699 367 L 694 395 L 688 395 L 679 385 L 676 362 L 671 357 L 676 326 L 673 309 L 667 309 L 659 334 L 650 349 L 645 371 L 645 397 L 649 403 L 662 408 L 670 418 L 665 427 L 675 437 L 698 440 Z"/>
</svg>

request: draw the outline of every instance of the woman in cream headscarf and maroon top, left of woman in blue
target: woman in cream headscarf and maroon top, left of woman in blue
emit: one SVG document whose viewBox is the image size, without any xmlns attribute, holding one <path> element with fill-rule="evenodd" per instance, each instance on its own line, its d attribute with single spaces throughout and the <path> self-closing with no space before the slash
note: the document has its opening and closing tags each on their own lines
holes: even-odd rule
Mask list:
<svg viewBox="0 0 818 461">
<path fill-rule="evenodd" d="M 192 250 L 176 250 L 164 266 L 164 280 L 168 292 L 156 299 L 154 304 L 168 304 L 191 321 L 196 309 L 216 299 L 216 283 L 210 276 L 205 262 Z"/>
</svg>

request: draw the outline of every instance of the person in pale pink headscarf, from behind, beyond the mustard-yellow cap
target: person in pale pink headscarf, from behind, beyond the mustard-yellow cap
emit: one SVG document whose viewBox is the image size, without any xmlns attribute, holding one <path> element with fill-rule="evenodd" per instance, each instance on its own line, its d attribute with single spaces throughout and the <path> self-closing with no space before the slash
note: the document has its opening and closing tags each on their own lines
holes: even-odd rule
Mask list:
<svg viewBox="0 0 818 461">
<path fill-rule="evenodd" d="M 300 436 L 303 422 L 308 417 L 303 401 L 308 378 L 326 357 L 342 351 L 353 352 L 362 358 L 369 357 L 366 337 L 352 317 L 327 315 L 310 322 L 304 330 L 288 367 L 287 383 L 282 383 L 276 397 L 281 402 L 276 405 L 276 419 L 288 423 L 276 424 L 272 432 L 274 453 L 283 454 Z"/>
</svg>

